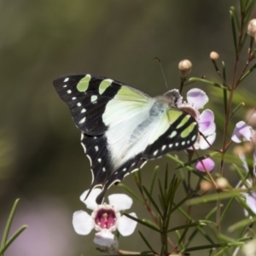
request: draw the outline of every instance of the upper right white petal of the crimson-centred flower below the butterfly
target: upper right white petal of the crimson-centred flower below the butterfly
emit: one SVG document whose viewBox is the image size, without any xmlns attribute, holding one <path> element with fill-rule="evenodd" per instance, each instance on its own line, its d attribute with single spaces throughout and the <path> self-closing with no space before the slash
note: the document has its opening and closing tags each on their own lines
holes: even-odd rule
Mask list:
<svg viewBox="0 0 256 256">
<path fill-rule="evenodd" d="M 116 211 L 127 210 L 131 208 L 132 199 L 125 194 L 108 195 L 109 205 L 113 206 Z"/>
</svg>

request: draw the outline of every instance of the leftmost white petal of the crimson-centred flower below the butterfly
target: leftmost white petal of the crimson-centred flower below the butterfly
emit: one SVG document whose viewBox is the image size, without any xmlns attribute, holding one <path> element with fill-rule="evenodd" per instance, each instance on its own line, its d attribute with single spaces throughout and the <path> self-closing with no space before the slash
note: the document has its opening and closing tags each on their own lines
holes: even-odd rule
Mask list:
<svg viewBox="0 0 256 256">
<path fill-rule="evenodd" d="M 88 235 L 94 228 L 93 219 L 82 210 L 73 213 L 73 228 L 79 235 Z"/>
</svg>

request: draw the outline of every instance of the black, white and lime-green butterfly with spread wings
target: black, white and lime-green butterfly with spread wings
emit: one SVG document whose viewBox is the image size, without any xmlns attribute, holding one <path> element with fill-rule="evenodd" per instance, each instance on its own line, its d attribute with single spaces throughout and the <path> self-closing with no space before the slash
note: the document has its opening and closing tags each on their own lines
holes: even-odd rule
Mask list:
<svg viewBox="0 0 256 256">
<path fill-rule="evenodd" d="M 171 151 L 192 146 L 196 120 L 177 108 L 178 90 L 150 97 L 119 81 L 92 74 L 68 74 L 53 82 L 67 103 L 90 160 L 90 190 L 108 188 Z M 88 194 L 89 195 L 89 194 Z"/>
</svg>

